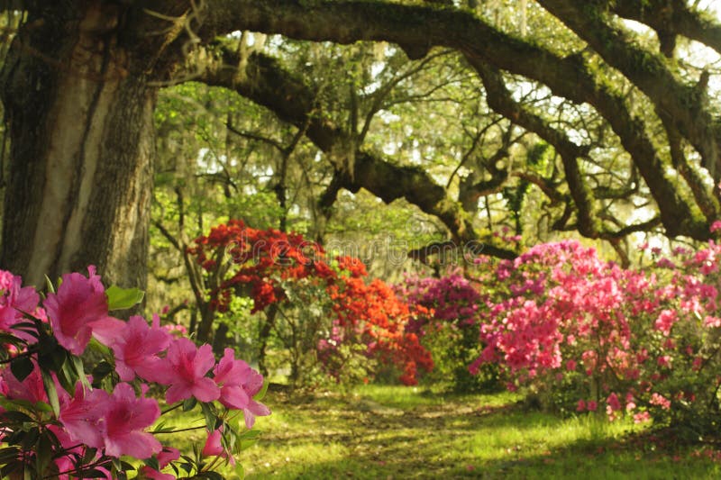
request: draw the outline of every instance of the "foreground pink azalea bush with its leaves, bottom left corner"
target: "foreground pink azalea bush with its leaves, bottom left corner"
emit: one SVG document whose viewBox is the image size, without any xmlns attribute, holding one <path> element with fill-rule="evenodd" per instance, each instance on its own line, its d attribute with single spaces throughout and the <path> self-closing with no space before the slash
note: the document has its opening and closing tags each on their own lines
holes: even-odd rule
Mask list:
<svg viewBox="0 0 721 480">
<path fill-rule="evenodd" d="M 263 377 L 232 349 L 216 362 L 209 345 L 176 338 L 157 316 L 150 324 L 114 318 L 110 311 L 140 293 L 105 290 L 94 267 L 88 274 L 64 275 L 41 302 L 19 276 L 0 271 L 0 476 L 116 478 L 135 458 L 145 478 L 175 478 L 180 469 L 213 478 L 217 461 L 207 457 L 234 464 L 233 454 L 256 438 L 243 427 L 270 413 L 260 403 Z M 103 358 L 91 376 L 79 358 L 89 348 Z M 195 458 L 161 443 L 158 434 L 173 429 L 158 423 L 153 385 L 165 390 L 165 412 L 200 405 L 198 428 L 210 433 Z"/>
</svg>

